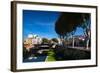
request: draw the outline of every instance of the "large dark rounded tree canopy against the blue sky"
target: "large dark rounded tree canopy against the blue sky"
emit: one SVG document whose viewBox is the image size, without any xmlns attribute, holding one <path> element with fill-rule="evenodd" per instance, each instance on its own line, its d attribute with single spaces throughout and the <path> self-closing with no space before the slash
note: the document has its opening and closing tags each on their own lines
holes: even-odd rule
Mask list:
<svg viewBox="0 0 100 73">
<path fill-rule="evenodd" d="M 62 12 L 61 16 L 55 23 L 55 31 L 59 35 L 60 39 L 63 39 L 63 45 L 64 40 L 66 40 L 69 36 L 74 35 L 77 27 L 81 27 L 87 35 L 86 31 L 89 26 L 89 20 L 89 13 Z"/>
</svg>

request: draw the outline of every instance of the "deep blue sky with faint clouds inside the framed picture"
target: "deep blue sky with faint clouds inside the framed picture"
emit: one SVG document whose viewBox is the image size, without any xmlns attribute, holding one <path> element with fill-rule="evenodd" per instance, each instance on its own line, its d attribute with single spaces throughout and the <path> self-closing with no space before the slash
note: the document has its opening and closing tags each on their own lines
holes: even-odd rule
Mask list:
<svg viewBox="0 0 100 73">
<path fill-rule="evenodd" d="M 37 34 L 40 37 L 56 38 L 55 22 L 60 12 L 23 10 L 23 35 Z M 77 28 L 75 35 L 83 35 L 83 30 Z"/>
</svg>

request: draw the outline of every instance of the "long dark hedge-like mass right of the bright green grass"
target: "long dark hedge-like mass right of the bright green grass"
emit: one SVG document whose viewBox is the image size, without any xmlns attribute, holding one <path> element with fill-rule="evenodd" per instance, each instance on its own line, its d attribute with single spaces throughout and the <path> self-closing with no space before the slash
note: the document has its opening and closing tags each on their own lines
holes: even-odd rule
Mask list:
<svg viewBox="0 0 100 73">
<path fill-rule="evenodd" d="M 90 59 L 91 52 L 87 50 L 81 50 L 77 48 L 63 48 L 59 47 L 55 49 L 55 58 L 57 61 L 62 60 L 82 60 L 82 59 Z"/>
</svg>

